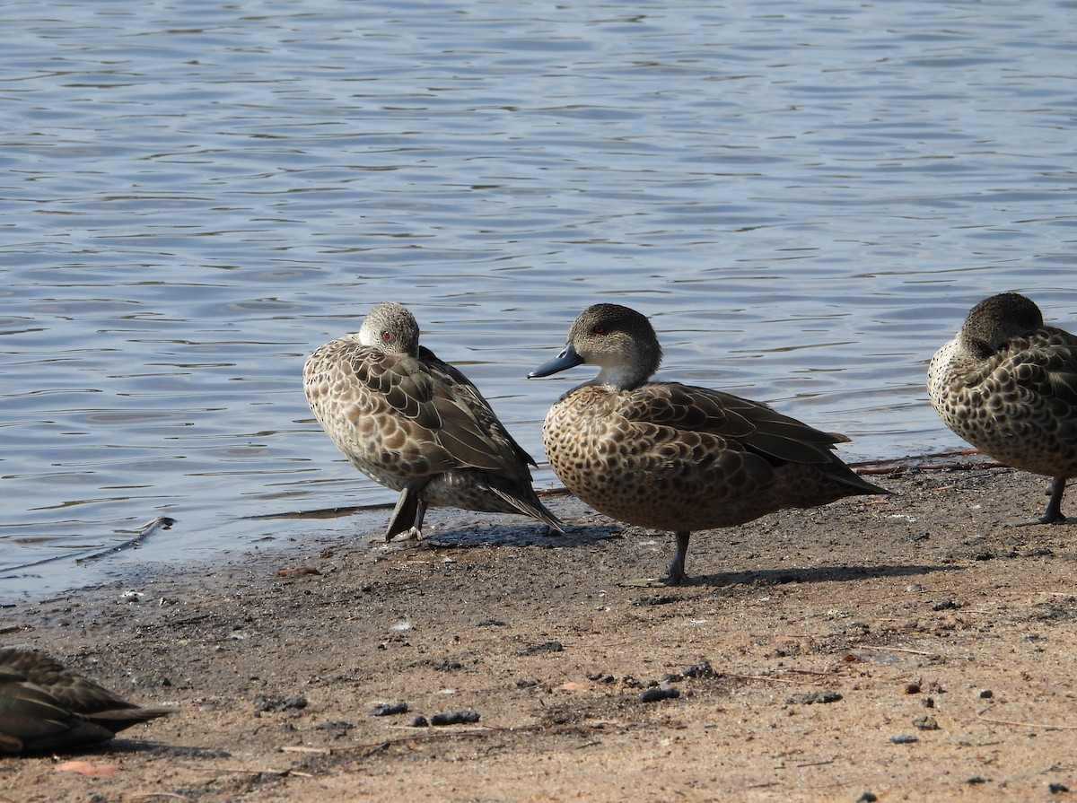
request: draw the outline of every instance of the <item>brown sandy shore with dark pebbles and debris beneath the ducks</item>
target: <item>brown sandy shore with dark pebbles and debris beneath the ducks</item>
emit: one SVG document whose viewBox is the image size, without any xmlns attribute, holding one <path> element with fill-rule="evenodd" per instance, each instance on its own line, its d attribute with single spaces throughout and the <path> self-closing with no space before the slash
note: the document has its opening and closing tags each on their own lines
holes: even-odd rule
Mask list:
<svg viewBox="0 0 1077 803">
<path fill-rule="evenodd" d="M 681 589 L 619 584 L 668 534 L 554 497 L 563 537 L 435 510 L 419 546 L 379 523 L 5 608 L 4 645 L 177 713 L 80 757 L 102 774 L 0 759 L 0 800 L 1067 800 L 1077 527 L 1004 526 L 1047 481 L 968 462 L 697 533 Z"/>
</svg>

